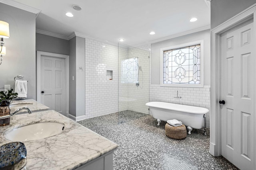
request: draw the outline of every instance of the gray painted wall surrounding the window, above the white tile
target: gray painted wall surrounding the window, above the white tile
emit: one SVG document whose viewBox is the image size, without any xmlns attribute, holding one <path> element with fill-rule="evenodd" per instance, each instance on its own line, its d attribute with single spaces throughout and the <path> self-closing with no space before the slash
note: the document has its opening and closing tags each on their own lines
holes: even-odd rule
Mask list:
<svg viewBox="0 0 256 170">
<path fill-rule="evenodd" d="M 160 84 L 160 49 L 204 40 L 204 85 L 210 85 L 210 30 L 200 31 L 151 44 L 151 84 Z"/>
</svg>

